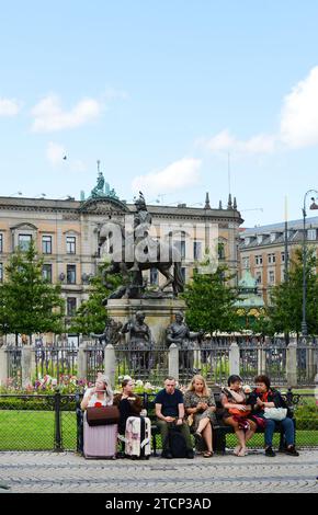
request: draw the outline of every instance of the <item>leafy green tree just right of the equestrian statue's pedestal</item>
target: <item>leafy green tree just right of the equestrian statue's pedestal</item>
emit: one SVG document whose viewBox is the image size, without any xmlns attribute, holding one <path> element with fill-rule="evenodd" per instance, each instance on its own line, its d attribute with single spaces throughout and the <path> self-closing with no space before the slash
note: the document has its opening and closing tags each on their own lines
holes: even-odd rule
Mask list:
<svg viewBox="0 0 318 515">
<path fill-rule="evenodd" d="M 228 283 L 232 277 L 225 266 L 211 273 L 194 271 L 193 278 L 185 285 L 182 295 L 186 302 L 186 321 L 192 330 L 202 329 L 212 333 L 237 329 L 235 302 L 238 291 Z"/>
</svg>

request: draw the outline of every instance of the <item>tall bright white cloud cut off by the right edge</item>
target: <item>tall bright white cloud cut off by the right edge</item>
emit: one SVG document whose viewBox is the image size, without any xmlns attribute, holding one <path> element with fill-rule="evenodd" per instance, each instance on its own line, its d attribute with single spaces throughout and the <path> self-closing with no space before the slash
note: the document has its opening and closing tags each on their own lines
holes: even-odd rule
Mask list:
<svg viewBox="0 0 318 515">
<path fill-rule="evenodd" d="M 285 96 L 281 138 L 291 148 L 318 145 L 318 66 Z"/>
</svg>

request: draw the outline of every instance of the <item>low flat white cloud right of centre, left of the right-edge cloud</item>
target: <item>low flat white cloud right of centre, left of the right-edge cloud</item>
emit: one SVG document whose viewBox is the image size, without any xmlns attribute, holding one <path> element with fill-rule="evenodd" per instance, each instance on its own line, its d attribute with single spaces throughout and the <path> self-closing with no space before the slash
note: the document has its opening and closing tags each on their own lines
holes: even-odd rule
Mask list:
<svg viewBox="0 0 318 515">
<path fill-rule="evenodd" d="M 270 153 L 274 150 L 275 138 L 271 135 L 259 134 L 250 139 L 240 140 L 232 136 L 228 129 L 224 129 L 208 140 L 201 140 L 200 145 L 212 152 Z"/>
</svg>

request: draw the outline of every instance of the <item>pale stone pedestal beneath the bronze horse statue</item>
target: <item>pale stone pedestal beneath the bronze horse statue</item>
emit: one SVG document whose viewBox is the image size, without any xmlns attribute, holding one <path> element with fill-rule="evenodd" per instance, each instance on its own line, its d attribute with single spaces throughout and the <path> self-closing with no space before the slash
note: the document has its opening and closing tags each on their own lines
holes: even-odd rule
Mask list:
<svg viewBox="0 0 318 515">
<path fill-rule="evenodd" d="M 135 319 L 137 311 L 144 311 L 145 322 L 149 325 L 156 345 L 166 345 L 166 329 L 174 321 L 178 311 L 185 312 L 185 302 L 181 299 L 110 299 L 107 316 L 116 322 L 126 323 Z"/>
</svg>

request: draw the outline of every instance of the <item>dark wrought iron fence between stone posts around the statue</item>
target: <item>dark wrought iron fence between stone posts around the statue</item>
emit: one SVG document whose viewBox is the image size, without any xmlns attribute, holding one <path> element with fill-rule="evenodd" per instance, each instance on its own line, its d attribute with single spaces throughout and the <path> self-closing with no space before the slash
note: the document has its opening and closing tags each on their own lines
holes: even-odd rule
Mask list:
<svg viewBox="0 0 318 515">
<path fill-rule="evenodd" d="M 230 373 L 229 353 L 232 342 L 239 346 L 240 375 L 246 382 L 252 382 L 255 375 L 265 373 L 273 384 L 287 385 L 287 346 L 282 339 L 255 336 L 214 336 L 203 342 L 190 342 L 179 351 L 179 377 L 186 384 L 194 374 L 205 376 L 209 384 L 223 385 Z M 5 347 L 8 377 L 18 387 L 22 385 L 22 346 Z M 66 341 L 53 345 L 33 347 L 35 368 L 33 376 L 48 374 L 60 381 L 61 376 L 78 376 L 79 350 Z M 134 348 L 127 344 L 115 346 L 116 380 L 129 375 L 136 379 L 160 385 L 169 373 L 169 348 L 164 345 L 151 350 Z M 98 341 L 87 342 L 83 348 L 86 378 L 94 381 L 98 371 L 104 369 L 104 345 Z M 318 373 L 318 342 L 303 339 L 297 344 L 297 381 L 299 386 L 313 386 Z M 80 378 L 80 377 L 79 377 Z M 82 377 L 81 377 L 82 378 Z M 34 377 L 30 378 L 31 380 Z"/>
</svg>

